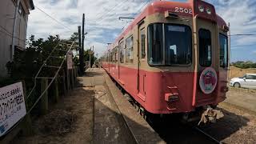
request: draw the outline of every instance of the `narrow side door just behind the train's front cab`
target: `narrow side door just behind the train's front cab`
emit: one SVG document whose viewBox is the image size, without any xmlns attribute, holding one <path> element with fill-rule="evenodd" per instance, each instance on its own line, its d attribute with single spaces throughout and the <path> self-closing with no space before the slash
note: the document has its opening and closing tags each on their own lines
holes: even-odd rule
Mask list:
<svg viewBox="0 0 256 144">
<path fill-rule="evenodd" d="M 145 78 L 146 73 L 142 70 L 142 67 L 145 63 L 146 53 L 146 28 L 144 21 L 138 23 L 138 77 L 137 77 L 137 89 L 138 89 L 138 97 L 143 101 L 146 99 L 145 92 Z"/>
</svg>

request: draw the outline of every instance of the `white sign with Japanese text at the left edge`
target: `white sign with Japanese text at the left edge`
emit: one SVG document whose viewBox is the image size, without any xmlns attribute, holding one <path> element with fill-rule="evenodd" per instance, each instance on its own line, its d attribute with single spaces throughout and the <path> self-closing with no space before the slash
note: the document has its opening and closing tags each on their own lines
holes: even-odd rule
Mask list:
<svg viewBox="0 0 256 144">
<path fill-rule="evenodd" d="M 22 82 L 0 88 L 0 137 L 25 115 Z"/>
</svg>

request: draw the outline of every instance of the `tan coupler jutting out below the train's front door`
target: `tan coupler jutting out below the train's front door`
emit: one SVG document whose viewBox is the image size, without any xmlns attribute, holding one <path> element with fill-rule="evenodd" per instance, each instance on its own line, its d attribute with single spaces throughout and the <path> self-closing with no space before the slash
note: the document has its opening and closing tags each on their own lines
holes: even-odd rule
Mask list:
<svg viewBox="0 0 256 144">
<path fill-rule="evenodd" d="M 200 122 L 198 122 L 198 126 L 200 125 L 201 122 L 215 123 L 216 120 L 218 120 L 219 118 L 222 118 L 222 117 L 224 117 L 224 114 L 222 113 L 221 110 L 214 110 L 212 107 L 207 106 L 206 110 L 202 113 L 201 120 L 200 120 Z"/>
</svg>

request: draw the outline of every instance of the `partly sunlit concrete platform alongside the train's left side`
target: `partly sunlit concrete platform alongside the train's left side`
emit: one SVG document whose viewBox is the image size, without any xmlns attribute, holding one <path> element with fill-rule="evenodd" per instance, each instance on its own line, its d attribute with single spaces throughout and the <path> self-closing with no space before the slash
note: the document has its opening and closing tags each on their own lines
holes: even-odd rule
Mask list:
<svg viewBox="0 0 256 144">
<path fill-rule="evenodd" d="M 165 143 L 126 100 L 105 70 L 86 70 L 80 83 L 95 90 L 94 143 Z"/>
</svg>

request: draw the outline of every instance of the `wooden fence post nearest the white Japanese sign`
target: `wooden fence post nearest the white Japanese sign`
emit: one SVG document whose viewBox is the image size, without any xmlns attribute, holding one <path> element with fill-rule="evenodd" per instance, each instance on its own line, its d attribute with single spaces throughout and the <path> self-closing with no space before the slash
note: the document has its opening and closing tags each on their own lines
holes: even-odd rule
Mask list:
<svg viewBox="0 0 256 144">
<path fill-rule="evenodd" d="M 46 90 L 48 86 L 48 79 L 42 79 L 41 80 L 41 94 L 44 90 Z M 46 90 L 46 93 L 43 94 L 41 100 L 40 100 L 40 112 L 41 114 L 47 114 L 49 110 L 48 106 L 48 90 Z"/>
</svg>

